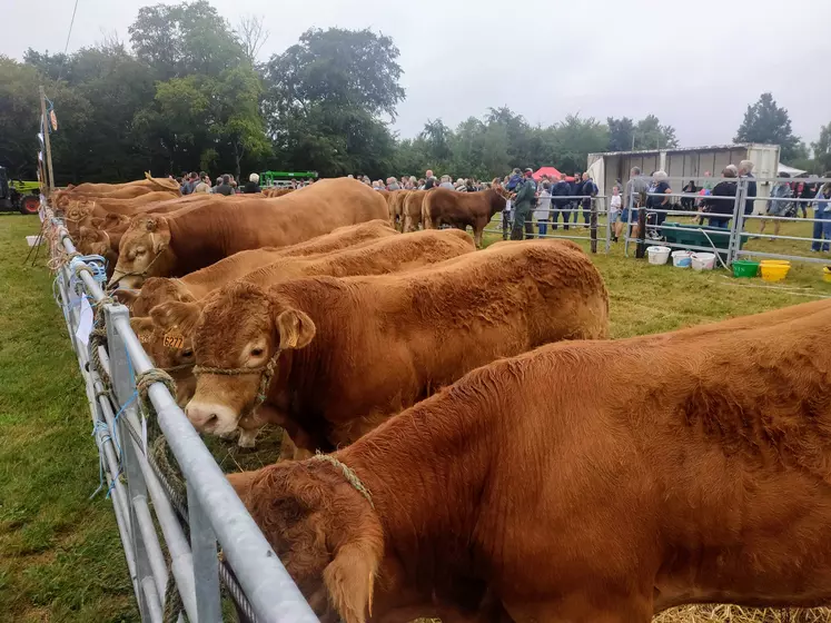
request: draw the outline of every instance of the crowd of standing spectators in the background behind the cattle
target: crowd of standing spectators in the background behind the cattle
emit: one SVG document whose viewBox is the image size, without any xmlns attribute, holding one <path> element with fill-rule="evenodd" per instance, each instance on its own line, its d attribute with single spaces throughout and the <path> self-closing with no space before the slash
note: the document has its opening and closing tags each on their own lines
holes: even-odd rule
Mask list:
<svg viewBox="0 0 831 623">
<path fill-rule="evenodd" d="M 646 208 L 647 226 L 660 226 L 666 219 L 665 211 L 674 209 L 680 204 L 681 209 L 706 212 L 706 216 L 696 218 L 706 221 L 709 227 L 726 229 L 732 219 L 735 208 L 735 197 L 739 191 L 739 180 L 748 179 L 746 200 L 744 215 L 753 211 L 756 198 L 756 182 L 753 177 L 753 162 L 742 160 L 739 166 L 728 165 L 721 171 L 725 179 L 719 184 L 709 181 L 711 171 L 704 172 L 704 182 L 699 187 L 695 180 L 683 187 L 684 196 L 681 201 L 673 201 L 673 190 L 669 184 L 669 176 L 663 170 L 653 171 L 651 176 L 643 175 L 640 168 L 634 167 L 630 171 L 630 179 L 625 187 L 619 179 L 611 189 L 609 196 L 609 219 L 612 226 L 612 240 L 619 241 L 624 229 L 631 222 L 631 237 L 639 236 L 636 217 L 631 214 L 633 209 Z M 556 178 L 543 175 L 535 180 L 532 169 L 523 172 L 515 168 L 511 175 L 503 179 L 495 178 L 492 181 L 481 181 L 475 177 L 456 178 L 443 175 L 437 177 L 432 170 L 425 171 L 424 177 L 402 175 L 400 177 L 388 177 L 386 180 L 372 180 L 366 175 L 349 175 L 374 190 L 429 190 L 431 188 L 446 188 L 458 192 L 477 192 L 487 188 L 499 186 L 508 197 L 505 210 L 502 214 L 503 238 L 512 240 L 534 238 L 534 225 L 538 235 L 546 236 L 548 227 L 556 230 L 562 226 L 564 230 L 572 227 L 588 227 L 592 205 L 597 197 L 597 185 L 587 172 L 575 172 L 574 175 L 561 174 Z M 790 177 L 782 174 L 781 177 Z M 831 177 L 831 172 L 824 177 Z M 651 179 L 650 179 L 651 178 Z M 226 174 L 211 180 L 206 172 L 182 174 L 176 178 L 181 186 L 182 195 L 191 192 L 217 192 L 220 195 L 234 195 L 237 192 L 260 192 L 259 175 L 251 174 L 248 181 L 240 189 L 233 175 Z M 301 188 L 313 184 L 313 179 L 293 179 L 291 188 Z M 621 189 L 623 188 L 623 192 Z M 794 200 L 798 199 L 798 200 Z M 776 184 L 768 200 L 766 215 L 771 217 L 797 217 L 801 211 L 803 218 L 808 218 L 808 209 L 813 205 L 814 219 L 813 238 L 811 250 L 828 251 L 831 248 L 831 184 L 819 185 L 810 180 L 797 179 Z M 580 224 L 580 214 L 583 215 L 583 224 Z M 572 214 L 574 219 L 572 220 Z M 712 215 L 712 216 L 711 216 Z M 821 221 L 821 222 L 819 222 Z M 779 236 L 781 220 L 773 219 L 773 235 Z M 761 221 L 760 235 L 763 235 L 768 220 Z M 656 227 L 647 227 L 645 237 L 660 239 Z M 771 238 L 773 240 L 774 238 Z"/>
</svg>

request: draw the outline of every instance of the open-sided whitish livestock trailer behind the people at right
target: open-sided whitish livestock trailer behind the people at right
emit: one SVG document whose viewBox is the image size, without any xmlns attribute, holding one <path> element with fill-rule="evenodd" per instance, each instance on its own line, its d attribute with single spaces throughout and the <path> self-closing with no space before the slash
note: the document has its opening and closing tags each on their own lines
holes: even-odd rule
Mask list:
<svg viewBox="0 0 831 623">
<path fill-rule="evenodd" d="M 779 146 L 755 142 L 736 145 L 714 145 L 710 147 L 690 147 L 674 149 L 653 149 L 645 151 L 609 151 L 590 154 L 587 171 L 594 179 L 600 195 L 611 195 L 616 180 L 624 184 L 629 179 L 632 167 L 640 167 L 643 175 L 651 175 L 656 170 L 664 170 L 673 178 L 673 191 L 681 192 L 677 179 L 686 184 L 696 179 L 699 186 L 706 171 L 713 177 L 720 177 L 728 165 L 739 166 L 742 160 L 753 162 L 753 175 L 759 178 L 775 178 L 779 171 Z M 762 199 L 770 196 L 768 182 L 760 182 L 756 197 L 755 212 L 764 211 Z"/>
</svg>

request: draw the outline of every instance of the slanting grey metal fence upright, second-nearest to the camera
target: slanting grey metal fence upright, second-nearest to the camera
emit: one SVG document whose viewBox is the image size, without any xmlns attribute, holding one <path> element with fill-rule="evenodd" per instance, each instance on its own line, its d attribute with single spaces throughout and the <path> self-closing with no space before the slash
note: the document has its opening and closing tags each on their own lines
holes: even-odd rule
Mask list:
<svg viewBox="0 0 831 623">
<path fill-rule="evenodd" d="M 147 485 L 141 475 L 141 469 L 138 465 L 138 457 L 136 456 L 136 448 L 129 443 L 130 432 L 127 425 L 127 414 L 137 413 L 137 399 L 136 399 L 136 379 L 132 375 L 132 366 L 129 362 L 129 355 L 127 348 L 125 348 L 121 336 L 116 329 L 115 318 L 117 317 L 129 317 L 127 307 L 123 305 L 106 305 L 103 308 L 105 322 L 107 326 L 107 345 L 110 356 L 110 376 L 112 378 L 113 393 L 118 399 L 121 409 L 125 412 L 118 416 L 116 428 L 118 431 L 118 438 L 121 445 L 121 464 L 125 475 L 127 476 L 127 492 L 129 495 L 129 510 L 130 510 L 130 536 L 132 538 L 132 554 L 136 561 L 136 573 L 140 586 L 148 585 L 147 580 L 152 582 L 152 567 L 150 566 L 150 558 L 147 553 L 147 546 L 142 538 L 141 532 L 138 530 L 139 520 L 136 512 L 137 506 L 141 506 L 147 503 Z M 113 431 L 115 433 L 115 431 Z M 150 595 L 147 591 L 139 591 L 136 595 L 139 603 L 139 612 L 142 620 L 145 617 L 151 619 L 157 613 L 157 604 L 150 603 Z M 159 595 L 159 600 L 164 603 L 164 595 Z"/>
</svg>

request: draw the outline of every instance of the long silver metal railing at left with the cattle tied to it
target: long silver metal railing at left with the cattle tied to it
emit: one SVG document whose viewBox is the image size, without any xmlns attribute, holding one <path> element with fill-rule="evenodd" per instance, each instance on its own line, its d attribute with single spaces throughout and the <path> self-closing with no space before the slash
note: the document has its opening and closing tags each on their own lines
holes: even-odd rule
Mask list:
<svg viewBox="0 0 831 623">
<path fill-rule="evenodd" d="M 221 580 L 243 621 L 317 621 L 161 382 L 130 328 L 127 308 L 101 289 L 102 261 L 76 251 L 44 201 L 41 219 L 56 269 L 56 300 L 85 380 L 101 488 L 112 501 L 141 620 L 181 620 L 184 611 L 191 622 L 221 621 Z M 152 427 L 181 471 L 181 497 L 148 449 Z"/>
</svg>

